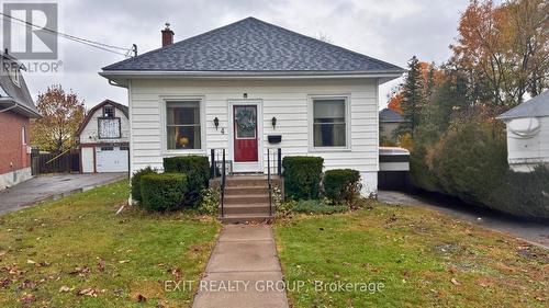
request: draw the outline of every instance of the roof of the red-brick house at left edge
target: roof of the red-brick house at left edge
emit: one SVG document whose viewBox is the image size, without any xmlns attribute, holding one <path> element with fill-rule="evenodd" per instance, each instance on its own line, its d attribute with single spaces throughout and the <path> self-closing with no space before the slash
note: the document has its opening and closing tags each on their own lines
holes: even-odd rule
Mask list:
<svg viewBox="0 0 549 308">
<path fill-rule="evenodd" d="M 14 66 L 19 68 L 19 85 L 14 83 L 10 73 L 5 71 L 4 64 L 10 68 Z M 0 67 L 2 68 L 0 72 L 0 111 L 10 109 L 27 117 L 40 117 L 40 112 L 34 105 L 25 79 L 21 75 L 21 69 L 24 69 L 24 67 L 8 54 L 0 56 Z"/>
</svg>

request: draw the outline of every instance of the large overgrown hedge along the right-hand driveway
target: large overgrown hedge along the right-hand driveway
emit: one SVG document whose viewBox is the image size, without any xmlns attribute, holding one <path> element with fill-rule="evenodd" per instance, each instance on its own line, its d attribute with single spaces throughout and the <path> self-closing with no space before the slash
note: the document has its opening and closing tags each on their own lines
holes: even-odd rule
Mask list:
<svg viewBox="0 0 549 308">
<path fill-rule="evenodd" d="M 413 184 L 486 208 L 549 218 L 549 168 L 508 169 L 505 130 L 485 123 L 456 125 L 436 142 L 419 135 L 411 158 Z"/>
</svg>

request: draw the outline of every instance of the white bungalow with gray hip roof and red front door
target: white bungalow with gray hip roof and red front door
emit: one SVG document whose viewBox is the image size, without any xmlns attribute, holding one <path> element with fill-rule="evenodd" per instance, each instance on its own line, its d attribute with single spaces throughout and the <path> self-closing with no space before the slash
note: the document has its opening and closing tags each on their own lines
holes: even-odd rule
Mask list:
<svg viewBox="0 0 549 308">
<path fill-rule="evenodd" d="M 280 148 L 377 192 L 378 89 L 402 68 L 254 18 L 175 44 L 161 33 L 161 48 L 100 72 L 128 91 L 132 172 L 226 149 L 235 173 L 262 173 Z"/>
</svg>

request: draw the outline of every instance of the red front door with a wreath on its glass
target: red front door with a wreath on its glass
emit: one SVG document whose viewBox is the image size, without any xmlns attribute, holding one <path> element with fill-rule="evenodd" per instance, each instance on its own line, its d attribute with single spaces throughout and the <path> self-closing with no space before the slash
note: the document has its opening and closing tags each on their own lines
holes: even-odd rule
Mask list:
<svg viewBox="0 0 549 308">
<path fill-rule="evenodd" d="M 235 162 L 257 159 L 257 105 L 234 105 Z"/>
</svg>

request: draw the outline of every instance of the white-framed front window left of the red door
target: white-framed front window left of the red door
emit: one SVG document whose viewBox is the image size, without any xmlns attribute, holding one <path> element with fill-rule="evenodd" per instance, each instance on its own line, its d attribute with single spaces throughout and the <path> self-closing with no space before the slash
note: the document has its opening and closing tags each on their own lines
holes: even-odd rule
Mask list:
<svg viewBox="0 0 549 308">
<path fill-rule="evenodd" d="M 200 102 L 167 102 L 167 148 L 200 149 Z"/>
</svg>

